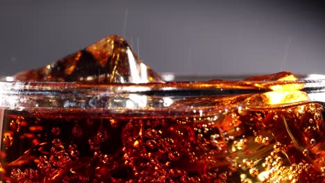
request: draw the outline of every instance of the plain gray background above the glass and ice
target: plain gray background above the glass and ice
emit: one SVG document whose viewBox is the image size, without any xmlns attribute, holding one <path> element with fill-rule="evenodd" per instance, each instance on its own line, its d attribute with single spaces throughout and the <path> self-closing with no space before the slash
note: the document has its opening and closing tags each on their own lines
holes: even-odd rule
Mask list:
<svg viewBox="0 0 325 183">
<path fill-rule="evenodd" d="M 324 14 L 317 1 L 0 0 L 0 75 L 110 34 L 158 72 L 325 74 Z"/>
</svg>

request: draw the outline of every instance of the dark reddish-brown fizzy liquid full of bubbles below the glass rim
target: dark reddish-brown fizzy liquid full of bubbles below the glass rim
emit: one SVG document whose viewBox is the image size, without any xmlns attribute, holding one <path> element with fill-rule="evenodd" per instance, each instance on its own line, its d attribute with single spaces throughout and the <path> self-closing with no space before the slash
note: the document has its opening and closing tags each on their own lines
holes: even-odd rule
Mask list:
<svg viewBox="0 0 325 183">
<path fill-rule="evenodd" d="M 322 105 L 192 116 L 3 111 L 3 182 L 322 182 Z"/>
</svg>

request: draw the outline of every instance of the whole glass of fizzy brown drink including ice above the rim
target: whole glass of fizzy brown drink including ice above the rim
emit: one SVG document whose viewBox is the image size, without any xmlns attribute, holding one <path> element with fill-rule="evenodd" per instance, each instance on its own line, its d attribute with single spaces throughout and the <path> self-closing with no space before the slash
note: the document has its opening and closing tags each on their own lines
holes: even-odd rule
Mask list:
<svg viewBox="0 0 325 183">
<path fill-rule="evenodd" d="M 14 78 L 2 182 L 324 182 L 323 105 L 290 72 L 164 83 L 110 36 Z"/>
</svg>

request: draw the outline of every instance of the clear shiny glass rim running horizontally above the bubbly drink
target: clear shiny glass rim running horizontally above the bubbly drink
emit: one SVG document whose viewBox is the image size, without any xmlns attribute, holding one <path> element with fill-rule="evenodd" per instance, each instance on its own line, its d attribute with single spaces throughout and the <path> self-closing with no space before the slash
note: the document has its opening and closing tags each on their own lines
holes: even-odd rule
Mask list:
<svg viewBox="0 0 325 183">
<path fill-rule="evenodd" d="M 125 110 L 152 112 L 159 109 L 169 112 L 169 105 L 184 98 L 261 94 L 276 90 L 281 85 L 290 86 L 280 87 L 281 92 L 302 91 L 308 93 L 310 101 L 325 102 L 325 77 L 306 75 L 292 81 L 207 80 L 138 84 L 0 81 L 0 107 L 70 111 L 103 109 L 118 113 Z M 212 103 L 206 109 L 211 110 L 213 107 Z M 188 109 L 178 106 L 172 110 L 183 112 Z"/>
</svg>

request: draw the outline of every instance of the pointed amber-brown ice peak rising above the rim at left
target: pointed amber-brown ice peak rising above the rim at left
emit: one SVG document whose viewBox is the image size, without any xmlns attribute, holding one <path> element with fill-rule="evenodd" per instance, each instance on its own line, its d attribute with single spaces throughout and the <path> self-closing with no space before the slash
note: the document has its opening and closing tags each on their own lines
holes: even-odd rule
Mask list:
<svg viewBox="0 0 325 183">
<path fill-rule="evenodd" d="M 67 55 L 40 69 L 22 71 L 13 80 L 49 82 L 146 83 L 164 82 L 147 67 L 131 46 L 117 35 Z"/>
</svg>

